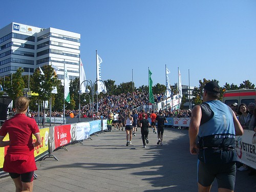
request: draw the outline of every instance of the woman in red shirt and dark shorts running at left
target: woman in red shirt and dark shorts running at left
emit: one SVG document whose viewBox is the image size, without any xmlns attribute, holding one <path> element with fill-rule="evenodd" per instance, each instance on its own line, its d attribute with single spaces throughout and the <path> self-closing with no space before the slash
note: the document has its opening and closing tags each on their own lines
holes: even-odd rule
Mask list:
<svg viewBox="0 0 256 192">
<path fill-rule="evenodd" d="M 14 181 L 16 192 L 33 190 L 34 170 L 37 170 L 34 147 L 41 144 L 38 126 L 34 119 L 27 117 L 29 99 L 18 97 L 15 101 L 16 114 L 6 120 L 0 129 L 0 146 L 8 146 L 3 170 Z M 3 141 L 9 134 L 9 141 Z M 36 137 L 33 143 L 32 134 Z"/>
</svg>

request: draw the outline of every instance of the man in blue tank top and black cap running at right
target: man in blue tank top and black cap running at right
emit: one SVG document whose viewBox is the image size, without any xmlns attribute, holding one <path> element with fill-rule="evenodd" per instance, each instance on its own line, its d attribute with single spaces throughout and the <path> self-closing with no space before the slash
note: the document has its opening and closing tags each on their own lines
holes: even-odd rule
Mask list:
<svg viewBox="0 0 256 192">
<path fill-rule="evenodd" d="M 236 180 L 236 135 L 243 128 L 231 108 L 218 100 L 216 81 L 205 84 L 204 103 L 193 108 L 189 124 L 190 153 L 198 155 L 199 192 L 210 191 L 215 178 L 218 192 L 232 192 Z M 198 142 L 197 142 L 198 141 Z"/>
</svg>

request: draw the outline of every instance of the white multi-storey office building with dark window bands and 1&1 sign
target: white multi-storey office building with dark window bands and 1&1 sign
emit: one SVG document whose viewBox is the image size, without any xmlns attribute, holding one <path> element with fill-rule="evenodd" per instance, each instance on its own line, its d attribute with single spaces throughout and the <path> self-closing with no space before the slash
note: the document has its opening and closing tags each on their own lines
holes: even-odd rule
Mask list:
<svg viewBox="0 0 256 192">
<path fill-rule="evenodd" d="M 79 77 L 80 34 L 55 28 L 11 23 L 0 29 L 0 76 L 9 76 L 19 67 L 23 75 L 54 65 L 63 82 L 64 65 L 69 79 Z"/>
</svg>

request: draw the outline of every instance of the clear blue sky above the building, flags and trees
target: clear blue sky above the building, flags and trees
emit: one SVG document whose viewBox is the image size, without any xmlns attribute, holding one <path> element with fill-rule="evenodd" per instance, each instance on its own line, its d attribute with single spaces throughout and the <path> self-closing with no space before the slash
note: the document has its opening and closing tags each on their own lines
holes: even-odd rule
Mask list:
<svg viewBox="0 0 256 192">
<path fill-rule="evenodd" d="M 256 1 L 254 0 L 77 0 L 2 1 L 0 28 L 11 22 L 81 34 L 87 79 L 165 84 L 165 65 L 173 85 L 199 86 L 217 79 L 239 86 L 256 84 Z"/>
</svg>

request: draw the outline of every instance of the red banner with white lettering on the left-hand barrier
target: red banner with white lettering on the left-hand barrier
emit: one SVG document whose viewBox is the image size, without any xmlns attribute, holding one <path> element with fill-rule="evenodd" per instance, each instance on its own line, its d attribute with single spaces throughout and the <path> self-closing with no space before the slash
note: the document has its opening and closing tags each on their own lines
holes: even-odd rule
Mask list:
<svg viewBox="0 0 256 192">
<path fill-rule="evenodd" d="M 71 142 L 71 125 L 63 124 L 54 126 L 55 148 L 67 145 Z"/>
</svg>

